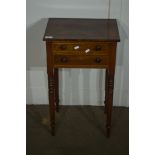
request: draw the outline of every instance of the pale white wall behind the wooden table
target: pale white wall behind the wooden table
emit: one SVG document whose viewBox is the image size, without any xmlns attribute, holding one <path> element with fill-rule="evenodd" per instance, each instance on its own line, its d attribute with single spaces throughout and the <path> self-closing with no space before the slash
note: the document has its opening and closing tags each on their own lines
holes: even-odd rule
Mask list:
<svg viewBox="0 0 155 155">
<path fill-rule="evenodd" d="M 42 41 L 47 18 L 108 18 L 108 9 L 108 0 L 27 0 L 27 104 L 48 104 L 46 51 Z M 117 106 L 128 106 L 128 13 L 128 0 L 111 0 L 110 18 L 118 19 L 121 36 L 114 89 Z M 60 69 L 59 73 L 60 104 L 103 105 L 103 70 Z"/>
</svg>

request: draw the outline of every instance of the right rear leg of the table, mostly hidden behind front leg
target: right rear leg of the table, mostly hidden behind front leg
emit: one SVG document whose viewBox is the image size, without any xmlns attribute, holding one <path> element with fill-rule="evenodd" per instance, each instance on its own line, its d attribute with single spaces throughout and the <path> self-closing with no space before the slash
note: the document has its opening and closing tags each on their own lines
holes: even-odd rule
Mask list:
<svg viewBox="0 0 155 155">
<path fill-rule="evenodd" d="M 104 113 L 107 113 L 107 97 L 108 97 L 108 70 L 105 74 L 105 100 L 104 100 Z"/>
</svg>

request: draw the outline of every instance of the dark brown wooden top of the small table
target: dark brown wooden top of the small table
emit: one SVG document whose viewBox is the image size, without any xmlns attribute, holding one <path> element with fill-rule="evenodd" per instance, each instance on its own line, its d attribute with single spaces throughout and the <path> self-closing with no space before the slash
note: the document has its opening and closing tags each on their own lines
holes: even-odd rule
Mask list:
<svg viewBox="0 0 155 155">
<path fill-rule="evenodd" d="M 49 18 L 44 41 L 120 41 L 116 19 Z"/>
</svg>

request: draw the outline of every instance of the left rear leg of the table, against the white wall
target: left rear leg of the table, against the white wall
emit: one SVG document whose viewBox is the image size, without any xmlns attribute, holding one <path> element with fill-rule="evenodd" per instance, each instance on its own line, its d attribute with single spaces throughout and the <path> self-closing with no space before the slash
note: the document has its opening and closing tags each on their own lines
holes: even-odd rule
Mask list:
<svg viewBox="0 0 155 155">
<path fill-rule="evenodd" d="M 55 103 L 56 111 L 59 111 L 59 72 L 58 68 L 54 69 L 54 79 L 55 79 Z"/>
</svg>

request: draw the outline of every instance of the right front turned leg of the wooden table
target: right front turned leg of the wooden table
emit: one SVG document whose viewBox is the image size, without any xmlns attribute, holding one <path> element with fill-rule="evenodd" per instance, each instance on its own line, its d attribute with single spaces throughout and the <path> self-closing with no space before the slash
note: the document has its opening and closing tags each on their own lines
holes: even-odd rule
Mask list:
<svg viewBox="0 0 155 155">
<path fill-rule="evenodd" d="M 107 94 L 107 105 L 106 105 L 106 113 L 107 113 L 107 137 L 110 137 L 110 129 L 111 129 L 111 117 L 112 117 L 112 105 L 113 105 L 113 88 L 114 88 L 114 74 L 108 73 L 108 94 Z"/>
</svg>

